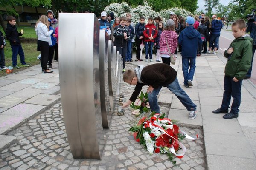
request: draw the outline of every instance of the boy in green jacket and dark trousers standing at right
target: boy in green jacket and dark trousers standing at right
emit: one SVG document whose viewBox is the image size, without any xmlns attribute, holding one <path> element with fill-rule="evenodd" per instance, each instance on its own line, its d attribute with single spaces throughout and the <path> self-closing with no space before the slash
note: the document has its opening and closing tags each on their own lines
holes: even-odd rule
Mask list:
<svg viewBox="0 0 256 170">
<path fill-rule="evenodd" d="M 243 19 L 238 19 L 232 24 L 233 36 L 236 38 L 231 42 L 230 47 L 225 51 L 227 58 L 224 77 L 224 93 L 221 108 L 212 113 L 225 113 L 224 119 L 237 118 L 241 103 L 242 80 L 251 67 L 252 42 L 253 39 L 245 34 L 246 23 Z M 233 103 L 228 113 L 231 96 Z"/>
</svg>

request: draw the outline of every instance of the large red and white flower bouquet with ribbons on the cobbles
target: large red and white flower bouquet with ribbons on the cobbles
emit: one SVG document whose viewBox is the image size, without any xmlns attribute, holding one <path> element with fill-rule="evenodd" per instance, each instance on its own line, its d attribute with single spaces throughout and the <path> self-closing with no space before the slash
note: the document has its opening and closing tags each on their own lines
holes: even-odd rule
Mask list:
<svg viewBox="0 0 256 170">
<path fill-rule="evenodd" d="M 186 152 L 186 147 L 180 141 L 184 138 L 196 140 L 199 137 L 191 137 L 179 130 L 165 114 L 151 113 L 145 116 L 143 113 L 130 124 L 132 126 L 129 131 L 134 133 L 135 140 L 140 142 L 150 155 L 154 152 L 167 154 L 173 164 L 176 163 L 175 156 L 182 158 Z"/>
</svg>

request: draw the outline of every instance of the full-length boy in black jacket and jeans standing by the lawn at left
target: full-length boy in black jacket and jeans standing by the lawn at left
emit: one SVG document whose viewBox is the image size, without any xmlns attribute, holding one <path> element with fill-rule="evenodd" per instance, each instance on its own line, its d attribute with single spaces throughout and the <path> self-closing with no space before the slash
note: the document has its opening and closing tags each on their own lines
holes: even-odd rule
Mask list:
<svg viewBox="0 0 256 170">
<path fill-rule="evenodd" d="M 16 28 L 16 19 L 13 16 L 7 17 L 7 28 L 6 28 L 6 38 L 10 41 L 12 47 L 12 66 L 13 68 L 20 68 L 17 65 L 17 56 L 20 56 L 21 67 L 28 67 L 30 64 L 26 64 L 24 51 L 20 44 L 19 36 L 23 33 L 19 33 Z"/>
</svg>

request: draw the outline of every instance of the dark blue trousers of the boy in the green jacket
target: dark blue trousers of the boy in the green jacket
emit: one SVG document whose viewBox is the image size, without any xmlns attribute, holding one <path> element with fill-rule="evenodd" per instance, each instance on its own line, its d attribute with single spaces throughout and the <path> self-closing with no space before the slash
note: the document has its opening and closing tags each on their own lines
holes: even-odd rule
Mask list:
<svg viewBox="0 0 256 170">
<path fill-rule="evenodd" d="M 224 93 L 221 103 L 221 110 L 227 110 L 230 105 L 231 96 L 233 97 L 233 103 L 231 105 L 230 113 L 238 114 L 239 106 L 241 103 L 241 88 L 242 88 L 242 79 L 238 82 L 234 82 L 233 77 L 225 76 L 224 77 Z"/>
</svg>

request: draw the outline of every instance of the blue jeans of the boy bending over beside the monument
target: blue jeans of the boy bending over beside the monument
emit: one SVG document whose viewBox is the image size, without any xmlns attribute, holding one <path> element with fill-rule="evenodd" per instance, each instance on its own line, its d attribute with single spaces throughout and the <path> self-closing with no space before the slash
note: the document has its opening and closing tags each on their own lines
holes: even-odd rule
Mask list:
<svg viewBox="0 0 256 170">
<path fill-rule="evenodd" d="M 186 94 L 185 91 L 180 87 L 177 77 L 175 80 L 166 86 L 169 88 L 170 91 L 172 91 L 175 96 L 180 100 L 180 102 L 183 104 L 183 106 L 186 107 L 188 111 L 194 111 L 196 109 L 196 105 L 192 102 L 192 100 L 189 98 L 189 96 Z M 159 91 L 161 90 L 162 86 L 160 86 L 157 89 L 154 89 L 152 93 L 148 93 L 148 101 L 150 105 L 151 111 L 155 111 L 156 113 L 160 113 L 160 108 L 157 103 L 157 95 L 159 94 Z"/>
</svg>

